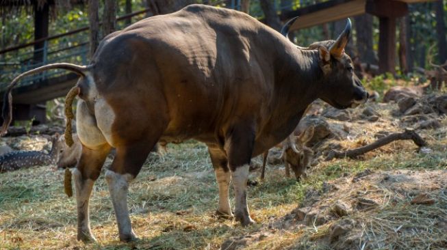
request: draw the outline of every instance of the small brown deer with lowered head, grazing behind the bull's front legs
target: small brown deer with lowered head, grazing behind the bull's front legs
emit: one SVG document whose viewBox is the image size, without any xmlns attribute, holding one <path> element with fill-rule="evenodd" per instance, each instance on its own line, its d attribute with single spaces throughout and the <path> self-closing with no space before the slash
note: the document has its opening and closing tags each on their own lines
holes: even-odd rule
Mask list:
<svg viewBox="0 0 447 250">
<path fill-rule="evenodd" d="M 298 130 L 298 129 L 297 129 Z M 306 178 L 306 169 L 310 167 L 314 151 L 306 146 L 312 137 L 314 137 L 314 126 L 307 127 L 302 133 L 295 135 L 298 131 L 289 135 L 281 143 L 281 156 L 285 165 L 285 176 L 290 177 L 290 169 L 294 171 L 297 181 Z M 268 156 L 268 150 L 264 152 L 264 161 L 262 162 L 261 180 L 264 180 L 266 172 L 266 161 Z"/>
</svg>

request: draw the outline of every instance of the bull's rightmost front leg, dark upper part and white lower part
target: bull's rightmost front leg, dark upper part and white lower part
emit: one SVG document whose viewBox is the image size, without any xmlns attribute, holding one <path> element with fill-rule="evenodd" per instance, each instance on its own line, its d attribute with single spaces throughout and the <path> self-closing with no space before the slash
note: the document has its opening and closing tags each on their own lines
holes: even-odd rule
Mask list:
<svg viewBox="0 0 447 250">
<path fill-rule="evenodd" d="M 235 219 L 242 225 L 254 223 L 248 212 L 246 202 L 246 186 L 248 169 L 250 167 L 255 132 L 251 126 L 235 126 L 227 135 L 225 150 L 228 155 L 228 165 L 231 170 L 235 196 Z"/>
</svg>

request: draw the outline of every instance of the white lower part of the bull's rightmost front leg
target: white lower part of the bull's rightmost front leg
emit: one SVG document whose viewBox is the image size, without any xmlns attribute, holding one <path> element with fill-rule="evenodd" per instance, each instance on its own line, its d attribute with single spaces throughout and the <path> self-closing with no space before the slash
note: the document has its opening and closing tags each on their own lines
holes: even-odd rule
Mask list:
<svg viewBox="0 0 447 250">
<path fill-rule="evenodd" d="M 240 221 L 242 225 L 248 225 L 254 223 L 248 212 L 248 206 L 246 202 L 246 184 L 248 180 L 249 165 L 243 165 L 235 169 L 231 173 L 231 179 L 233 180 L 233 189 L 235 196 L 235 219 Z"/>
</svg>

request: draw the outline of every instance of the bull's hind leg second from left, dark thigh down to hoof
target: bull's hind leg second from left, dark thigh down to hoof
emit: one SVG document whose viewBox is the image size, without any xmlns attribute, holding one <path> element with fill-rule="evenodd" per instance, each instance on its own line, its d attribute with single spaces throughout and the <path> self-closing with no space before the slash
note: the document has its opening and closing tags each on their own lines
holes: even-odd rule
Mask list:
<svg viewBox="0 0 447 250">
<path fill-rule="evenodd" d="M 112 167 L 105 173 L 121 241 L 127 242 L 136 239 L 127 209 L 127 193 L 130 182 L 137 176 L 156 142 L 156 140 L 140 141 L 131 145 L 119 146 L 116 148 Z"/>
</svg>

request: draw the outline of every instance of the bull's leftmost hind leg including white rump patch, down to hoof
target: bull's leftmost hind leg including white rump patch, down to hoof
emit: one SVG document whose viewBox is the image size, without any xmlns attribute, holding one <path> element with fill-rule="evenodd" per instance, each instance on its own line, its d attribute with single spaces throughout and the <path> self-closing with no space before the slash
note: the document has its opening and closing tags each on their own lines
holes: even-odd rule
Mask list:
<svg viewBox="0 0 447 250">
<path fill-rule="evenodd" d="M 73 170 L 77 202 L 77 239 L 86 242 L 95 240 L 90 230 L 88 202 L 94 181 L 99 177 L 101 167 L 110 152 L 110 145 L 97 128 L 96 120 L 83 100 L 78 101 L 76 116 L 77 134 L 82 143 L 81 158 Z"/>
</svg>

